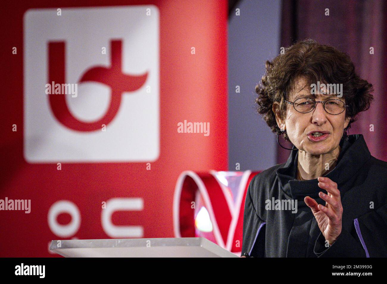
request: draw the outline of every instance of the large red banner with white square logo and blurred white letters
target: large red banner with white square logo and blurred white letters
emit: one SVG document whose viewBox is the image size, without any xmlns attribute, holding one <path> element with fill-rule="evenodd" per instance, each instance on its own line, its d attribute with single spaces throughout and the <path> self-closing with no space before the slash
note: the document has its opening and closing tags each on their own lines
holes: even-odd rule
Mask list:
<svg viewBox="0 0 387 284">
<path fill-rule="evenodd" d="M 13 1 L 0 15 L 0 257 L 174 237 L 180 173 L 228 167 L 227 2 Z M 185 120 L 202 124 L 179 133 Z"/>
</svg>

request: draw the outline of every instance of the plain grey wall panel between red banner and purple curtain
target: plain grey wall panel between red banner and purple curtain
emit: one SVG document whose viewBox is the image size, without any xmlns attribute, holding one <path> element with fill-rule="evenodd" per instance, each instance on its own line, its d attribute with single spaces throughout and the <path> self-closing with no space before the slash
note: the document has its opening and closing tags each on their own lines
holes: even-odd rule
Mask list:
<svg viewBox="0 0 387 284">
<path fill-rule="evenodd" d="M 277 142 L 255 110 L 255 85 L 265 61 L 280 49 L 281 1 L 242 0 L 228 25 L 228 143 L 229 170 L 264 170 L 276 164 Z M 236 93 L 240 86 L 240 93 Z"/>
</svg>

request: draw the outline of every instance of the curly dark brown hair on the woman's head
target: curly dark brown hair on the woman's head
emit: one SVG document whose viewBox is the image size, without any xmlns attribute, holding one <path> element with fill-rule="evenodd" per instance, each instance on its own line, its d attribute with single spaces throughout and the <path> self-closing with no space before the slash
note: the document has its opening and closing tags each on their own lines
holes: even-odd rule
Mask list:
<svg viewBox="0 0 387 284">
<path fill-rule="evenodd" d="M 317 81 L 342 83 L 342 96 L 349 105 L 346 118 L 351 117 L 346 129 L 356 121 L 359 112 L 370 107 L 373 100 L 372 84 L 356 74 L 348 54 L 332 46 L 319 44 L 313 39 L 299 41 L 285 48 L 284 53 L 272 61 L 266 61 L 265 75 L 255 87 L 258 94 L 255 99 L 258 113 L 272 132 L 282 134 L 287 141 L 290 141 L 288 135 L 279 129 L 272 106 L 273 102 L 279 102 L 279 115 L 284 118 L 288 107 L 284 100 L 289 100 L 289 93 L 295 82 L 302 77 L 307 80 L 309 86 Z"/>
</svg>

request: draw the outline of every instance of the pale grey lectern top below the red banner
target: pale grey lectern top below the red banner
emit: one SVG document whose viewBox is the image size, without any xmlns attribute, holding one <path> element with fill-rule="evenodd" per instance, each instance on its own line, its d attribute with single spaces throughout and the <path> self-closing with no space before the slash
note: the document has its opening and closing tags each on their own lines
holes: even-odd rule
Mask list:
<svg viewBox="0 0 387 284">
<path fill-rule="evenodd" d="M 238 257 L 205 238 L 53 240 L 63 257 Z"/>
</svg>

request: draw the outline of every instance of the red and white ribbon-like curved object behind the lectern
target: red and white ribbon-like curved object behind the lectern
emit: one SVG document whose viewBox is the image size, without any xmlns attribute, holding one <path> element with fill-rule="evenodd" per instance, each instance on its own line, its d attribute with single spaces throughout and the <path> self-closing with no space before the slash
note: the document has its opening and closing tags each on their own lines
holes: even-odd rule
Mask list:
<svg viewBox="0 0 387 284">
<path fill-rule="evenodd" d="M 205 204 L 208 209 L 213 233 L 217 245 L 231 252 L 241 252 L 243 238 L 243 213 L 248 185 L 259 172 L 246 171 L 243 173 L 237 193 L 237 202 L 230 207 L 216 177 L 212 173 L 183 172 L 175 188 L 173 201 L 173 221 L 176 237 L 195 237 L 195 216 L 191 202 L 195 200 L 197 191 L 209 197 Z M 202 185 L 204 187 L 202 187 Z M 234 226 L 233 226 L 234 224 Z M 219 237 L 218 237 L 219 236 Z"/>
</svg>

